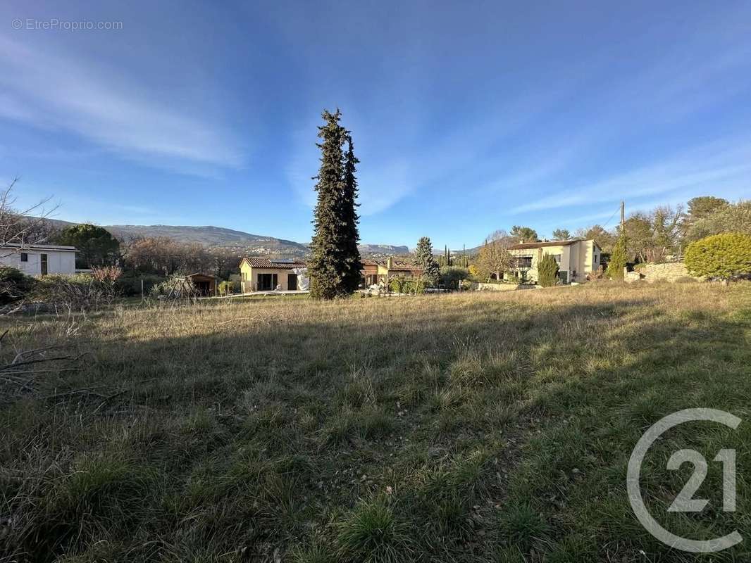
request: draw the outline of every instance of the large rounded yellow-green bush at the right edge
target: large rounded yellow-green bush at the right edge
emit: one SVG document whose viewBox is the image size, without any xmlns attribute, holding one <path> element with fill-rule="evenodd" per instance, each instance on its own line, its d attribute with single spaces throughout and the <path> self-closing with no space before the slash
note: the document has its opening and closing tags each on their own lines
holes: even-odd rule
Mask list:
<svg viewBox="0 0 751 563">
<path fill-rule="evenodd" d="M 731 279 L 751 274 L 751 236 L 725 233 L 707 236 L 686 248 L 686 268 L 692 275 Z"/>
</svg>

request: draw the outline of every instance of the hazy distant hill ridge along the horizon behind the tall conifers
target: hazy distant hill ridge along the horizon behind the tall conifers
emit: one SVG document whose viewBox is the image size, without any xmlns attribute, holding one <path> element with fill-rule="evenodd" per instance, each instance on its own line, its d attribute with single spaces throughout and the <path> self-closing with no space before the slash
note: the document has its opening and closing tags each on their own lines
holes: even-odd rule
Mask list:
<svg viewBox="0 0 751 563">
<path fill-rule="evenodd" d="M 68 227 L 69 221 L 48 219 L 57 228 Z M 309 254 L 309 245 L 294 240 L 276 239 L 273 236 L 245 233 L 242 230 L 226 229 L 224 227 L 190 227 L 179 225 L 152 224 L 113 224 L 101 225 L 109 230 L 113 236 L 122 241 L 131 239 L 166 236 L 181 242 L 198 242 L 206 246 L 220 248 L 234 248 L 252 254 L 276 254 L 285 256 L 305 256 Z M 397 245 L 359 245 L 360 253 L 366 256 L 391 254 L 408 254 L 409 248 Z"/>
</svg>

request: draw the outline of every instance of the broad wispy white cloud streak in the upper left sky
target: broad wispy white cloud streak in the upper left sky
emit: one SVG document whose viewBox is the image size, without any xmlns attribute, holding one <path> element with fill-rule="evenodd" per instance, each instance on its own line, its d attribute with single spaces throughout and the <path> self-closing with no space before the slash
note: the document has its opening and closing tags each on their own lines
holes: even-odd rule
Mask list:
<svg viewBox="0 0 751 563">
<path fill-rule="evenodd" d="M 128 157 L 238 167 L 233 136 L 191 108 L 159 99 L 119 68 L 41 50 L 0 36 L 0 116 L 74 131 Z"/>
</svg>

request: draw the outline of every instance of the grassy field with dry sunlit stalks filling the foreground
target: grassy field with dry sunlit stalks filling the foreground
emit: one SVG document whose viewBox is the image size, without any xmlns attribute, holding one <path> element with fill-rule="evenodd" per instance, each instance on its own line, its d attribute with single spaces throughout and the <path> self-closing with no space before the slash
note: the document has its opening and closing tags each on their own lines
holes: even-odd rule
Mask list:
<svg viewBox="0 0 751 563">
<path fill-rule="evenodd" d="M 642 486 L 671 531 L 751 534 L 749 284 L 120 306 L 5 329 L 4 363 L 84 355 L 0 380 L 0 561 L 751 560 L 751 539 L 668 548 L 626 495 L 647 427 L 731 411 L 734 432 L 665 435 Z M 690 474 L 665 468 L 677 444 L 737 448 L 736 512 L 711 462 L 710 507 L 666 512 Z"/>
</svg>

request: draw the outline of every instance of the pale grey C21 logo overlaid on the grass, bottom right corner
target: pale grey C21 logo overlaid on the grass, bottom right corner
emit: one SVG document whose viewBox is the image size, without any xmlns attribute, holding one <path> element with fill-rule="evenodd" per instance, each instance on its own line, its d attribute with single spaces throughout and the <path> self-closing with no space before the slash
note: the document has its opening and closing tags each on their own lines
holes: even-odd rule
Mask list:
<svg viewBox="0 0 751 563">
<path fill-rule="evenodd" d="M 718 411 L 713 408 L 687 408 L 685 411 L 678 411 L 669 414 L 667 417 L 658 420 L 639 441 L 629 459 L 629 468 L 627 471 L 626 485 L 629 489 L 629 502 L 641 522 L 641 525 L 647 529 L 654 537 L 668 544 L 668 546 L 683 549 L 692 553 L 710 553 L 728 549 L 736 543 L 743 541 L 743 537 L 737 530 L 732 531 L 722 537 L 716 537 L 712 540 L 690 540 L 686 537 L 680 537 L 666 530 L 653 518 L 644 505 L 644 499 L 641 498 L 641 489 L 639 487 L 639 474 L 641 473 L 641 464 L 644 462 L 644 456 L 652 444 L 662 434 L 669 429 L 692 421 L 709 421 L 724 424 L 732 429 L 736 429 L 740 424 L 740 418 L 725 411 Z M 735 510 L 735 450 L 723 449 L 714 457 L 714 461 L 722 463 L 722 510 L 725 512 L 734 512 Z M 694 466 L 694 471 L 678 493 L 673 503 L 668 507 L 669 512 L 701 512 L 707 506 L 707 499 L 694 498 L 695 492 L 704 483 L 707 477 L 707 459 L 695 450 L 678 450 L 670 459 L 668 459 L 668 469 L 675 471 L 683 463 L 689 462 Z"/>
</svg>

